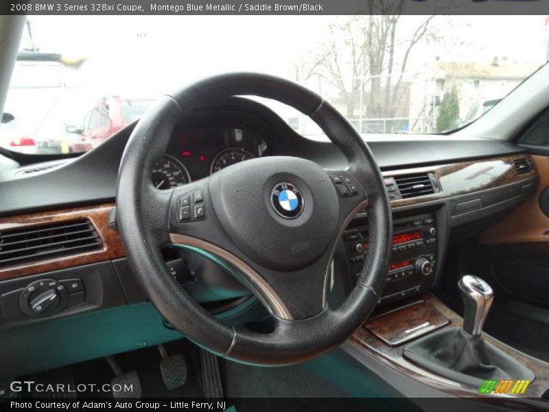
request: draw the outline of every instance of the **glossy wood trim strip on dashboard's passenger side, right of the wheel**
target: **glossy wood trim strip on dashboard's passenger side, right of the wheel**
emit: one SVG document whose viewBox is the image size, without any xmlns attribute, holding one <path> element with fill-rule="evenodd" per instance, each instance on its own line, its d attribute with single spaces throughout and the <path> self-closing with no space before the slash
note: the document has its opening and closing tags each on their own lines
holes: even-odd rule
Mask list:
<svg viewBox="0 0 549 412">
<path fill-rule="evenodd" d="M 501 185 L 508 185 L 532 179 L 537 176 L 537 170 L 529 173 L 515 173 L 513 161 L 529 159 L 530 155 L 520 154 L 513 156 L 491 157 L 461 163 L 436 165 L 425 168 L 412 168 L 383 172 L 385 177 L 396 177 L 403 174 L 434 173 L 441 184 L 441 192 L 421 197 L 391 201 L 392 207 L 414 205 L 437 201 L 451 196 L 491 189 Z"/>
</svg>

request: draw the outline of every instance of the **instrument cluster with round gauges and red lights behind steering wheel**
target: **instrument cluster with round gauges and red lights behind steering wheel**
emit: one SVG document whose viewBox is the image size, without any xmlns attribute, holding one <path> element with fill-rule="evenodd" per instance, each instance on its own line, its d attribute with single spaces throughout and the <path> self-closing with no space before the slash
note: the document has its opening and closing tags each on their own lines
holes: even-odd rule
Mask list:
<svg viewBox="0 0 549 412">
<path fill-rule="evenodd" d="M 171 189 L 219 172 L 230 165 L 266 155 L 266 138 L 246 126 L 181 126 L 166 154 L 151 170 L 152 184 Z"/>
</svg>

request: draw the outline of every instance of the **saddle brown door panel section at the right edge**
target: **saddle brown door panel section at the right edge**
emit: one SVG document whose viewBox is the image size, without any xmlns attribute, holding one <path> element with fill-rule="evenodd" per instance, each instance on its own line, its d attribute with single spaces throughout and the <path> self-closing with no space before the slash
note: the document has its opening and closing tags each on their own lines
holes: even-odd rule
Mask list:
<svg viewBox="0 0 549 412">
<path fill-rule="evenodd" d="M 532 159 L 539 172 L 539 185 L 536 192 L 504 220 L 481 233 L 480 243 L 546 242 L 546 244 L 538 244 L 535 249 L 549 251 L 549 236 L 546 234 L 546 231 L 549 231 L 549 218 L 539 207 L 539 195 L 549 187 L 549 157 L 533 156 Z"/>
</svg>

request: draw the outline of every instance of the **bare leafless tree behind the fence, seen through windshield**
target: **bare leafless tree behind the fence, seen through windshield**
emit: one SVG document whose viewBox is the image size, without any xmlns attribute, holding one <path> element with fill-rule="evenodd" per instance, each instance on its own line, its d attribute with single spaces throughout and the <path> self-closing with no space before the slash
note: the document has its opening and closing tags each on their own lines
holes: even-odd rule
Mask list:
<svg viewBox="0 0 549 412">
<path fill-rule="evenodd" d="M 335 87 L 347 104 L 349 117 L 355 116 L 358 100 L 366 93 L 366 78 L 369 104 L 361 115 L 393 117 L 410 56 L 421 41 L 431 38 L 434 16 L 419 23 L 412 36 L 402 41 L 399 27 L 406 0 L 366 1 L 370 14 L 331 25 L 329 40 L 309 59 L 308 69 L 301 70 L 305 79 L 317 76 Z"/>
</svg>

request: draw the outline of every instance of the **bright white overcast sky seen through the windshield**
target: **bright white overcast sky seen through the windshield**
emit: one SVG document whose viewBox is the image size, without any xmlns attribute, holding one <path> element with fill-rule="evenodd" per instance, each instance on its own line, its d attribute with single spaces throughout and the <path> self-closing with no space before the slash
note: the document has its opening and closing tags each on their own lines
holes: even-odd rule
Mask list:
<svg viewBox="0 0 549 412">
<path fill-rule="evenodd" d="M 292 63 L 314 55 L 329 35 L 329 23 L 337 19 L 345 17 L 30 16 L 34 40 L 43 52 L 88 58 L 82 69 L 108 89 L 159 92 L 227 71 L 290 77 Z M 406 36 L 424 18 L 401 19 L 400 35 Z M 411 70 L 421 70 L 437 57 L 491 62 L 497 55 L 509 62 L 544 61 L 544 16 L 436 19 L 444 40 L 417 49 Z"/>
</svg>

